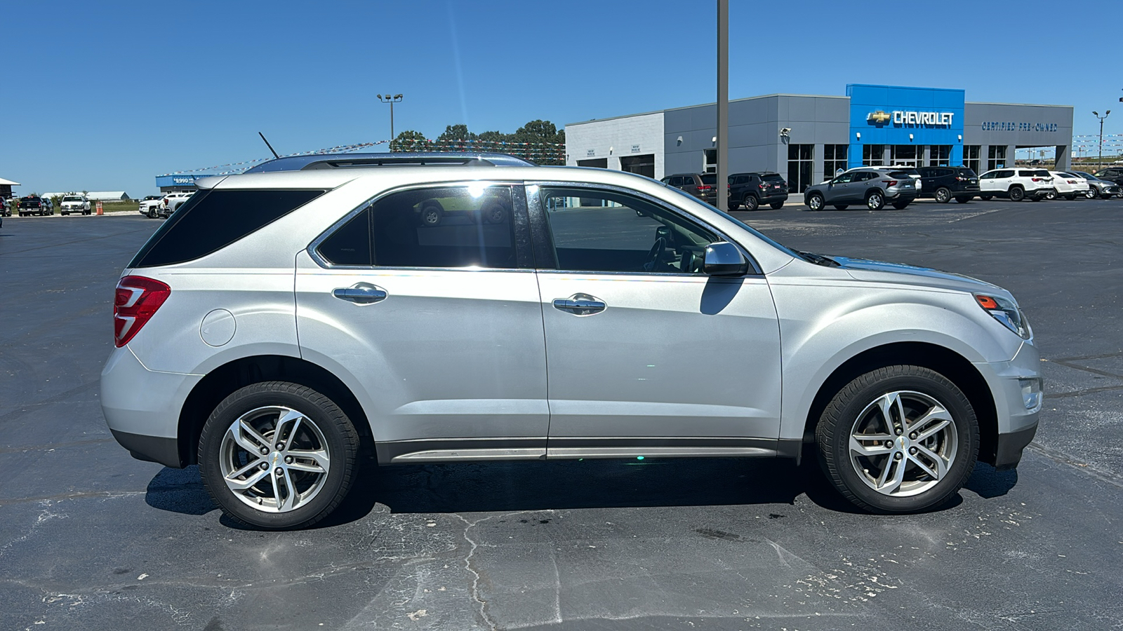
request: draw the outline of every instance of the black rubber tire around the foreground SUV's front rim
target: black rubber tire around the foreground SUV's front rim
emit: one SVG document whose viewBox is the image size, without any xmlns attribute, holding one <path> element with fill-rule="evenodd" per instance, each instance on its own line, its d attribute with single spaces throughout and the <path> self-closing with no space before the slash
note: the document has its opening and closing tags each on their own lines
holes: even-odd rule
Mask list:
<svg viewBox="0 0 1123 631">
<path fill-rule="evenodd" d="M 912 467 L 912 476 L 920 479 L 906 479 L 905 483 L 921 486 L 916 488 L 919 492 L 914 495 L 892 495 L 873 488 L 870 483 L 876 484 L 878 481 L 867 482 L 864 475 L 870 477 L 875 475 L 871 469 L 877 472 L 874 468 L 878 464 L 877 457 L 871 456 L 868 460 L 860 457 L 851 458 L 851 435 L 861 436 L 868 431 L 860 429 L 859 426 L 868 422 L 865 420 L 867 418 L 877 418 L 877 410 L 874 409 L 874 405 L 879 397 L 889 393 L 902 394 L 900 399 L 902 408 L 905 408 L 906 397 L 915 397 L 914 400 L 928 397 L 950 412 L 950 429 L 935 437 L 941 447 L 931 449 L 932 452 L 941 448 L 943 451 L 948 451 L 949 448 L 953 450 L 942 478 L 924 481 L 924 477 L 931 478 L 931 476 L 923 474 L 920 467 L 914 464 L 916 458 L 905 456 L 906 449 L 910 450 L 909 454 L 913 452 L 911 451 L 913 446 L 906 438 L 915 435 L 897 435 L 897 438 L 891 441 L 892 450 L 900 450 L 903 456 L 902 460 L 891 461 L 895 454 L 891 456 L 888 452 L 882 460 L 885 464 L 882 472 L 885 473 L 888 473 L 886 469 L 898 473 L 896 468 L 891 467 L 900 467 L 901 465 L 895 464 L 900 461 L 903 461 L 906 467 Z M 898 409 L 892 408 L 892 410 L 891 415 L 895 413 L 895 418 L 900 419 Z M 915 409 L 906 409 L 906 419 L 910 413 L 913 414 L 912 420 L 915 421 L 916 415 L 921 412 Z M 815 428 L 815 438 L 819 441 L 820 464 L 834 488 L 855 505 L 878 513 L 916 512 L 946 503 L 970 477 L 978 458 L 979 447 L 978 420 L 967 396 L 943 375 L 921 366 L 905 365 L 871 371 L 842 387 L 823 410 Z M 924 446 L 928 440 L 917 442 Z M 877 443 L 871 445 L 871 447 L 880 448 Z M 870 468 L 862 468 L 860 474 L 858 467 L 867 463 Z M 910 476 L 907 468 L 904 469 L 904 476 Z M 893 488 L 900 491 L 901 486 Z"/>
</svg>

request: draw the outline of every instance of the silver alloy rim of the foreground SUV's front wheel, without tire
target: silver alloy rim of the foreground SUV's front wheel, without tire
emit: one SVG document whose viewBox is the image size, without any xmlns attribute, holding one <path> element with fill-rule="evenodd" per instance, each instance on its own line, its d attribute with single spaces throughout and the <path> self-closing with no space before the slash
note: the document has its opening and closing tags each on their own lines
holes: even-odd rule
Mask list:
<svg viewBox="0 0 1123 631">
<path fill-rule="evenodd" d="M 889 392 L 866 405 L 855 420 L 850 464 L 866 486 L 883 495 L 919 495 L 948 475 L 958 436 L 948 408 L 932 396 Z"/>
</svg>

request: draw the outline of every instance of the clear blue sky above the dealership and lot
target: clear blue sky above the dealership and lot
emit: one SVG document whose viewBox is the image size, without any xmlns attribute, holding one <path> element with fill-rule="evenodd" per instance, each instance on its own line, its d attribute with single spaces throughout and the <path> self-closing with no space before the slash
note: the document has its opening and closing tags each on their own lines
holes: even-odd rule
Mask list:
<svg viewBox="0 0 1123 631">
<path fill-rule="evenodd" d="M 1085 52 L 1114 48 L 1115 26 L 1089 25 L 1119 25 L 1119 0 L 730 3 L 730 98 L 962 88 L 969 101 L 1075 106 L 1076 134 L 1098 131 L 1092 110 L 1117 109 L 1105 134 L 1123 131 L 1123 75 Z M 403 93 L 395 130 L 430 138 L 715 93 L 709 0 L 0 6 L 0 177 L 21 194 L 144 195 L 161 173 L 268 155 L 258 130 L 282 154 L 385 139 L 377 93 Z"/>
</svg>

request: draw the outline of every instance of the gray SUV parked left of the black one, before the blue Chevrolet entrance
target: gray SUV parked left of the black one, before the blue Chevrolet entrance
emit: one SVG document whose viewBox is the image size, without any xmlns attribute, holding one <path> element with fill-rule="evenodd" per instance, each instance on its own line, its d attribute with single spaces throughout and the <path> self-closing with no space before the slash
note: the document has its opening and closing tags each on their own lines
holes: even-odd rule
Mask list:
<svg viewBox="0 0 1123 631">
<path fill-rule="evenodd" d="M 828 182 L 809 186 L 803 203 L 811 210 L 833 205 L 846 210 L 862 204 L 869 210 L 882 210 L 886 203 L 897 210 L 916 199 L 914 180 L 903 171 L 892 168 L 851 168 Z"/>
</svg>

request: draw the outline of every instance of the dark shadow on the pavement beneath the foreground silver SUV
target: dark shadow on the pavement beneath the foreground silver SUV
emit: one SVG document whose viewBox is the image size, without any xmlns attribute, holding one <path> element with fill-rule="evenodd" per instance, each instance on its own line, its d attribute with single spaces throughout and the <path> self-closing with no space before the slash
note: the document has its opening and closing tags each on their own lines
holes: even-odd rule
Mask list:
<svg viewBox="0 0 1123 631">
<path fill-rule="evenodd" d="M 965 491 L 990 499 L 1005 495 L 1017 472 L 978 464 Z M 314 528 L 358 521 L 376 504 L 393 513 L 515 512 L 549 509 L 672 507 L 795 503 L 806 495 L 820 507 L 861 513 L 827 482 L 814 459 L 646 458 L 643 460 L 554 460 L 448 463 L 360 469 L 347 500 Z M 148 484 L 148 505 L 202 515 L 218 509 L 199 467 L 164 468 Z M 930 512 L 962 503 L 960 494 Z M 247 527 L 221 518 L 229 528 Z"/>
</svg>

